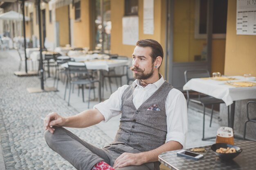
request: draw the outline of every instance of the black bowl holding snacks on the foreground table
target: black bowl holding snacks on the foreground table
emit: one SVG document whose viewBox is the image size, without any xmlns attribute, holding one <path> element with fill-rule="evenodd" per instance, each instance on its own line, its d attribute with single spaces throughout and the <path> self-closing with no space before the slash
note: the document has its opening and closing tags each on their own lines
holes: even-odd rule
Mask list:
<svg viewBox="0 0 256 170">
<path fill-rule="evenodd" d="M 236 149 L 236 153 L 216 153 L 216 150 L 219 148 L 235 148 Z M 220 159 L 223 160 L 231 160 L 234 159 L 237 155 L 239 155 L 243 149 L 239 148 L 238 146 L 235 145 L 230 145 L 230 144 L 223 144 L 223 143 L 218 143 L 218 144 L 213 144 L 211 146 L 211 150 L 213 150 L 213 152 L 220 157 Z"/>
</svg>

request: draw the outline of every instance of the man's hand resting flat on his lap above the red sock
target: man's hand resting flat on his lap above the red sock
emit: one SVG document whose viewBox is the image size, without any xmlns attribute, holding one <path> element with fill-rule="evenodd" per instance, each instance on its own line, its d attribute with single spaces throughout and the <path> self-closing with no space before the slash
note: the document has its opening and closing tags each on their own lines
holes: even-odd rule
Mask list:
<svg viewBox="0 0 256 170">
<path fill-rule="evenodd" d="M 122 168 L 130 165 L 139 166 L 143 163 L 146 163 L 146 161 L 142 153 L 123 153 L 116 159 L 113 168 Z"/>
</svg>

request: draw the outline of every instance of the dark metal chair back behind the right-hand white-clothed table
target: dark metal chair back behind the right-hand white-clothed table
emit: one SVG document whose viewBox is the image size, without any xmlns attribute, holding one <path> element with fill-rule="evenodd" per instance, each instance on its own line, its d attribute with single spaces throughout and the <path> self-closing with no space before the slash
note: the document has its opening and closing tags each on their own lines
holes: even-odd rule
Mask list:
<svg viewBox="0 0 256 170">
<path fill-rule="evenodd" d="M 184 76 L 185 76 L 185 83 L 187 83 L 191 78 L 210 77 L 210 73 L 206 69 L 186 70 L 184 72 Z"/>
</svg>

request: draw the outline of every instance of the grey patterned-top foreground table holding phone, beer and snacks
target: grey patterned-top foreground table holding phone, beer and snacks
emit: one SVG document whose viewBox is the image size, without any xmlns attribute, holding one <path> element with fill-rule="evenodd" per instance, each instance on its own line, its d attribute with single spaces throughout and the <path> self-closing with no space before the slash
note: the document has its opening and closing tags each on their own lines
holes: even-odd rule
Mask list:
<svg viewBox="0 0 256 170">
<path fill-rule="evenodd" d="M 193 160 L 186 157 L 177 156 L 177 151 L 173 150 L 161 153 L 158 160 L 165 166 L 175 170 L 253 170 L 256 162 L 256 142 L 235 140 L 235 145 L 243 149 L 237 157 L 231 161 L 221 160 L 211 150 L 211 145 L 203 146 L 206 150 L 202 159 Z M 187 149 L 189 150 L 189 149 Z"/>
</svg>

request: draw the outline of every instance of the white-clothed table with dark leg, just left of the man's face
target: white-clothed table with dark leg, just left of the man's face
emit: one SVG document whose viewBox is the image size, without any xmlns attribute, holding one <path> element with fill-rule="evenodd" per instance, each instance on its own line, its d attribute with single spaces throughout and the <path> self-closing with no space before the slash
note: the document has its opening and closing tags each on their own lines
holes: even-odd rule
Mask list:
<svg viewBox="0 0 256 170">
<path fill-rule="evenodd" d="M 85 62 L 76 62 L 77 65 L 85 63 L 85 66 L 88 70 L 99 70 L 99 102 L 101 102 L 101 82 L 102 80 L 102 71 L 106 70 L 109 71 L 109 68 L 119 67 L 128 65 L 128 60 L 119 60 L 119 59 L 95 59 L 92 61 L 85 61 Z M 68 68 L 67 63 L 63 63 L 61 65 L 63 68 Z"/>
</svg>

